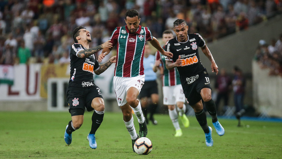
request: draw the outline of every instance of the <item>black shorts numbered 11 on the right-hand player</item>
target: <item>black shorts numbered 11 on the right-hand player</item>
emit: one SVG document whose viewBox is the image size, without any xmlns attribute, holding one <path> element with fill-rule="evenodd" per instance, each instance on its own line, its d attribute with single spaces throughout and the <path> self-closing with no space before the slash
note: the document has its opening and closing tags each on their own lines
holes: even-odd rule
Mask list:
<svg viewBox="0 0 282 159">
<path fill-rule="evenodd" d="M 206 69 L 200 74 L 192 76 L 190 79 L 192 79 L 191 81 L 193 81 L 193 79 L 196 80 L 191 84 L 188 84 L 188 82 L 186 82 L 184 85 L 182 85 L 182 87 L 186 100 L 189 101 L 189 105 L 193 106 L 194 104 L 196 104 L 198 101 L 202 99 L 200 94 L 201 89 L 203 88 L 212 89 L 212 88 L 210 84 L 210 77 L 209 74 L 206 72 Z"/>
</svg>

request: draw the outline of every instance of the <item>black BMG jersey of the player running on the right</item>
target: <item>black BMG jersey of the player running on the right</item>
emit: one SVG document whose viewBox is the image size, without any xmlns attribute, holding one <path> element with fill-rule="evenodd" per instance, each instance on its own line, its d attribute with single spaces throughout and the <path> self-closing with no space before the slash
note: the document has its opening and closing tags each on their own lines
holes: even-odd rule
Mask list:
<svg viewBox="0 0 282 159">
<path fill-rule="evenodd" d="M 177 67 L 177 70 L 180 73 L 181 83 L 189 81 L 188 84 L 192 84 L 190 77 L 196 77 L 197 74 L 205 69 L 201 64 L 198 52 L 199 47 L 204 46 L 205 41 L 200 34 L 188 34 L 188 40 L 185 42 L 178 41 L 177 37 L 175 37 L 165 45 L 165 50 L 173 53 L 171 61 L 175 62 L 180 56 L 182 65 Z M 196 80 L 196 78 L 193 80 Z"/>
</svg>

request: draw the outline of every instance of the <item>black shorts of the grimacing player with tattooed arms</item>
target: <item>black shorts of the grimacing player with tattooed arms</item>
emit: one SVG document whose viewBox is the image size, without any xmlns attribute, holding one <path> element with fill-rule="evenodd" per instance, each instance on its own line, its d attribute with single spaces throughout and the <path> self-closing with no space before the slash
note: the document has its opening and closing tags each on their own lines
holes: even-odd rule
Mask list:
<svg viewBox="0 0 282 159">
<path fill-rule="evenodd" d="M 88 112 L 94 110 L 94 108 L 91 107 L 92 100 L 96 97 L 103 98 L 97 85 L 88 88 L 67 90 L 66 96 L 70 106 L 69 112 L 71 116 L 83 115 L 85 108 Z M 72 111 L 72 109 L 82 109 L 83 112 Z"/>
</svg>

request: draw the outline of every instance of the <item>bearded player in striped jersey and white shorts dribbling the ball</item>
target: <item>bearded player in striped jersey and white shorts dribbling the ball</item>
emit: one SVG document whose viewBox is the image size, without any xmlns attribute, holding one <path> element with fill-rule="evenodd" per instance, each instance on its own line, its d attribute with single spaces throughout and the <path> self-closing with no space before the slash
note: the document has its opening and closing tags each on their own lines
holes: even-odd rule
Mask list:
<svg viewBox="0 0 282 159">
<path fill-rule="evenodd" d="M 123 120 L 131 136 L 133 146 L 138 134 L 133 123 L 132 109 L 138 119 L 139 136 L 145 137 L 147 135 L 146 119 L 143 116 L 141 104 L 137 99 L 144 84 L 143 57 L 145 42 L 149 41 L 152 46 L 169 58 L 172 58 L 172 53 L 166 52 L 159 45 L 159 41 L 152 36 L 148 27 L 139 25 L 140 18 L 136 10 L 128 10 L 125 13 L 124 20 L 126 25 L 115 28 L 110 37 L 112 45 L 117 45 L 117 62 L 113 85 L 118 106 L 123 112 Z M 98 61 L 101 62 L 111 49 L 103 49 Z"/>
</svg>

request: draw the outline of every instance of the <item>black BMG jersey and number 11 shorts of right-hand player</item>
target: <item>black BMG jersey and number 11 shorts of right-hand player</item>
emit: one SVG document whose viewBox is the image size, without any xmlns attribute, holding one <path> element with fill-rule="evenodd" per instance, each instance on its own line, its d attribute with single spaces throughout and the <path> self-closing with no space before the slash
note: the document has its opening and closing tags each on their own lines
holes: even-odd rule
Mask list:
<svg viewBox="0 0 282 159">
<path fill-rule="evenodd" d="M 175 62 L 179 56 L 182 60 L 182 65 L 176 68 L 180 74 L 185 97 L 190 105 L 201 100 L 202 88 L 211 89 L 209 75 L 200 61 L 198 52 L 199 47 L 204 46 L 205 41 L 200 34 L 188 34 L 188 40 L 185 42 L 180 42 L 175 37 L 165 45 L 165 50 L 173 53 L 173 58 L 170 60 Z"/>
</svg>

